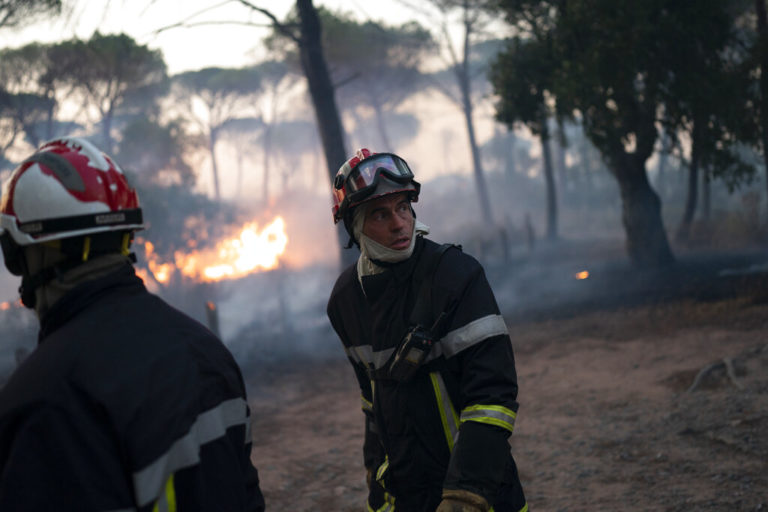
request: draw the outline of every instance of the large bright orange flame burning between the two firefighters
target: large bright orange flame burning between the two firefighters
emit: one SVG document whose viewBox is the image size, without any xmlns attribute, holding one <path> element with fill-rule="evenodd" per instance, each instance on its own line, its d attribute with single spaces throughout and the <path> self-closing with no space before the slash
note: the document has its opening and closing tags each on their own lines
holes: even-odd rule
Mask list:
<svg viewBox="0 0 768 512">
<path fill-rule="evenodd" d="M 194 248 L 196 244 L 187 245 Z M 237 279 L 259 270 L 272 270 L 277 268 L 287 245 L 285 221 L 276 217 L 261 231 L 256 222 L 244 224 L 236 236 L 220 241 L 212 249 L 176 251 L 173 263 L 161 262 L 149 241 L 144 242 L 144 249 L 154 280 L 167 283 L 175 270 L 198 281 Z"/>
</svg>

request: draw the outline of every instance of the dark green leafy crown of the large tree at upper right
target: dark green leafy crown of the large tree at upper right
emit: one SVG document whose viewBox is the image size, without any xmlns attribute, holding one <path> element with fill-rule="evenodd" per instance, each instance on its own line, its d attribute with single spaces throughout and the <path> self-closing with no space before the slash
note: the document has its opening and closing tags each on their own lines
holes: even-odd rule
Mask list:
<svg viewBox="0 0 768 512">
<path fill-rule="evenodd" d="M 751 137 L 748 73 L 733 6 L 719 0 L 499 0 L 522 34 L 491 74 L 497 117 L 536 131 L 551 97 L 581 121 L 611 167 L 647 158 L 658 137 L 700 123 L 702 160 L 718 176 L 753 172 L 737 141 Z"/>
</svg>

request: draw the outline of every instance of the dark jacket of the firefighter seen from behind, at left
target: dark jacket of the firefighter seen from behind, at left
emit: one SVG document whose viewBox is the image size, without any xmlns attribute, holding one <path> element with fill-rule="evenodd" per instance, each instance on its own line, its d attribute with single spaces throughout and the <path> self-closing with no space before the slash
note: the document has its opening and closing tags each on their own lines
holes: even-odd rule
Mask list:
<svg viewBox="0 0 768 512">
<path fill-rule="evenodd" d="M 126 264 L 41 320 L 0 390 L 0 510 L 263 511 L 240 370 Z"/>
</svg>

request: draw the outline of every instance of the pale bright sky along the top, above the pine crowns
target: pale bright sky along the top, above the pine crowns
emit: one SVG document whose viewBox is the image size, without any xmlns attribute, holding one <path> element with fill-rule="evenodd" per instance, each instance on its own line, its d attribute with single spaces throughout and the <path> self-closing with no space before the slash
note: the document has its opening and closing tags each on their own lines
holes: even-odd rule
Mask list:
<svg viewBox="0 0 768 512">
<path fill-rule="evenodd" d="M 268 9 L 279 19 L 295 4 L 291 0 L 252 0 L 251 3 Z M 414 17 L 395 0 L 315 0 L 314 3 L 386 24 L 400 24 Z M 157 33 L 163 27 L 184 21 L 263 26 L 221 23 Z M 0 47 L 17 47 L 31 41 L 54 42 L 73 36 L 87 39 L 96 30 L 104 34 L 124 32 L 141 44 L 162 50 L 169 74 L 175 74 L 207 66 L 239 67 L 254 62 L 261 39 L 269 33 L 268 24 L 266 16 L 237 0 L 78 0 L 68 17 L 38 23 L 21 31 L 3 29 Z"/>
</svg>

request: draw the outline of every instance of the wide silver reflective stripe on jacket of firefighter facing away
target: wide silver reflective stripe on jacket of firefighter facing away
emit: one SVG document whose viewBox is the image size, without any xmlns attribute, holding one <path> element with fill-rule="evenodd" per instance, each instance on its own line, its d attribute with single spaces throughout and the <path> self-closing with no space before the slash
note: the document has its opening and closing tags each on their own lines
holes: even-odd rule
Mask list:
<svg viewBox="0 0 768 512">
<path fill-rule="evenodd" d="M 143 507 L 158 499 L 165 488 L 168 477 L 200 462 L 200 447 L 224 437 L 227 429 L 242 425 L 245 427 L 245 444 L 251 442 L 248 405 L 242 398 L 221 402 L 195 419 L 189 432 L 177 439 L 171 447 L 146 467 L 133 474 L 136 503 Z"/>
</svg>

